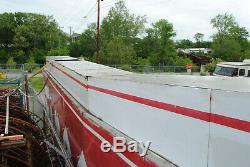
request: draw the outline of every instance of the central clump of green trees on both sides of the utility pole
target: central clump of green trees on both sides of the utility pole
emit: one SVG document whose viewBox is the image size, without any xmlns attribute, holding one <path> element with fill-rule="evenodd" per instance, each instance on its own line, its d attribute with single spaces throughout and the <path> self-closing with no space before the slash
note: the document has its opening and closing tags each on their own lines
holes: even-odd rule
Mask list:
<svg viewBox="0 0 250 167">
<path fill-rule="evenodd" d="M 168 20 L 161 19 L 147 29 L 145 23 L 145 16 L 131 14 L 125 1 L 119 0 L 101 24 L 101 63 L 109 65 L 190 63 L 190 59 L 177 56 L 173 40 L 174 27 Z M 80 39 L 70 45 L 70 55 L 95 61 L 95 34 L 96 25 L 90 25 L 81 34 Z"/>
</svg>

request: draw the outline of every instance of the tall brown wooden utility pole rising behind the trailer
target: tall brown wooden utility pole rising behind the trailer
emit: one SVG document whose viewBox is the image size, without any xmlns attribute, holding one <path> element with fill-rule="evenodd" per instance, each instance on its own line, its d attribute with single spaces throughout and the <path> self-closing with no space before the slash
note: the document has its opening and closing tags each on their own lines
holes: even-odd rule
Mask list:
<svg viewBox="0 0 250 167">
<path fill-rule="evenodd" d="M 97 0 L 98 4 L 98 13 L 97 13 L 97 33 L 96 33 L 96 63 L 100 63 L 100 9 L 101 9 L 101 1 Z"/>
</svg>

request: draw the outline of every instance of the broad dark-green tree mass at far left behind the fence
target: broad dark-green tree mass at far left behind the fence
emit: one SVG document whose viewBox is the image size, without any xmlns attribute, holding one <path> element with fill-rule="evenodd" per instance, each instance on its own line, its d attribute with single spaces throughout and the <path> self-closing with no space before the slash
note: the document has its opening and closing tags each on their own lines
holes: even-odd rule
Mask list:
<svg viewBox="0 0 250 167">
<path fill-rule="evenodd" d="M 36 50 L 45 56 L 52 48 L 67 45 L 67 36 L 58 29 L 52 16 L 34 13 L 3 13 L 0 14 L 0 47 L 18 63 L 25 63 Z M 37 58 L 35 58 L 37 60 Z"/>
</svg>

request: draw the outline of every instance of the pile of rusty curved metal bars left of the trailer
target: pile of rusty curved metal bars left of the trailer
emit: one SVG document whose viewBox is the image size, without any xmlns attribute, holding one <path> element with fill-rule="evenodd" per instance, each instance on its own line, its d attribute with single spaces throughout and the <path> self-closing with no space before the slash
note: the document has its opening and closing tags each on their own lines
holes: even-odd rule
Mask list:
<svg viewBox="0 0 250 167">
<path fill-rule="evenodd" d="M 11 95 L 4 97 L 8 92 L 10 88 L 0 88 L 0 96 L 3 96 L 0 98 L 0 128 L 5 134 L 0 140 L 0 166 L 43 167 L 58 164 L 60 156 L 53 156 L 58 153 L 54 149 L 49 150 L 44 142 L 45 139 L 53 140 L 52 136 L 50 133 L 44 135 L 42 127 L 37 124 L 43 120 L 25 110 L 29 101 L 24 108 L 20 106 L 22 97 L 18 92 L 12 91 Z M 44 121 L 44 127 L 48 127 L 46 124 Z M 23 135 L 23 139 L 19 135 Z"/>
</svg>

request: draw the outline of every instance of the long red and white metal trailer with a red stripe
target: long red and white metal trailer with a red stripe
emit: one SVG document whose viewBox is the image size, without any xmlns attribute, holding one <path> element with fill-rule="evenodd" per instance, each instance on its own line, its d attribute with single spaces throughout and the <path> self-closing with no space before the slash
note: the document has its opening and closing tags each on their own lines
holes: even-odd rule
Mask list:
<svg viewBox="0 0 250 167">
<path fill-rule="evenodd" d="M 75 166 L 248 167 L 250 79 L 143 75 L 87 61 L 45 72 L 51 119 Z M 103 153 L 115 136 L 151 141 L 138 153 Z"/>
</svg>

